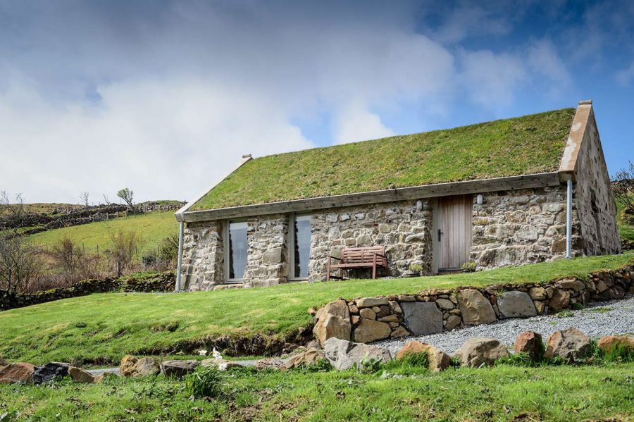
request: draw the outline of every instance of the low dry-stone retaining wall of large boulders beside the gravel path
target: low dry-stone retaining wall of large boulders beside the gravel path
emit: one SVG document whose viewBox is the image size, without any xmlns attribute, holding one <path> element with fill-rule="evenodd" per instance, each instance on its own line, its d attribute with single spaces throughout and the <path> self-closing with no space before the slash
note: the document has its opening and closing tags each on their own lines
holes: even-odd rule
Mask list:
<svg viewBox="0 0 634 422">
<path fill-rule="evenodd" d="M 597 271 L 588 280 L 566 278 L 549 283 L 507 284 L 425 290 L 418 294 L 340 299 L 316 313 L 313 333 L 367 343 L 388 337 L 427 335 L 465 325 L 492 323 L 583 307 L 634 293 L 634 266 Z"/>
</svg>

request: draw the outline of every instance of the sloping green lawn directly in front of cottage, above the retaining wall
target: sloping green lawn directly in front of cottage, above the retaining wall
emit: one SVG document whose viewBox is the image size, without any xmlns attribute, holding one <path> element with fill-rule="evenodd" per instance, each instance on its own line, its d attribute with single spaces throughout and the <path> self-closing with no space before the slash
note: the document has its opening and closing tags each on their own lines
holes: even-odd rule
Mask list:
<svg viewBox="0 0 634 422">
<path fill-rule="evenodd" d="M 280 339 L 309 325 L 309 307 L 339 297 L 542 282 L 620 268 L 633 260 L 634 252 L 630 252 L 435 277 L 290 283 L 186 294 L 92 294 L 0 312 L 0 356 L 33 364 L 59 360 L 111 363 L 128 353 L 191 349 L 192 341 L 205 338 L 261 335 Z"/>
</svg>

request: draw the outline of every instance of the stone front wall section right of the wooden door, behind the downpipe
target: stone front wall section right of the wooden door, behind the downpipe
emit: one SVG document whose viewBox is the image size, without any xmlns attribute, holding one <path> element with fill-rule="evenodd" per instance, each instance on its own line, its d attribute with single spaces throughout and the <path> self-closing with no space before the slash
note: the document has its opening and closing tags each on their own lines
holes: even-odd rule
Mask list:
<svg viewBox="0 0 634 422">
<path fill-rule="evenodd" d="M 490 192 L 473 201 L 471 260 L 479 269 L 550 261 L 566 254 L 566 187 Z M 573 254 L 583 254 L 573 210 Z"/>
</svg>

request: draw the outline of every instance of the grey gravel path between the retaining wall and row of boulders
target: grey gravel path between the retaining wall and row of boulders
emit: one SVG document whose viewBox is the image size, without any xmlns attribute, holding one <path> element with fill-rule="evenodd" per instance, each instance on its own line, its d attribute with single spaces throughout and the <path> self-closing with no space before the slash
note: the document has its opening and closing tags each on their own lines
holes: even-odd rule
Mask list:
<svg viewBox="0 0 634 422">
<path fill-rule="evenodd" d="M 533 318 L 513 318 L 487 325 L 461 328 L 448 333 L 383 340 L 373 344 L 387 347 L 394 356 L 406 342 L 419 340 L 452 354 L 465 340 L 472 337 L 494 337 L 504 345 L 512 347 L 517 335 L 526 330 L 540 333 L 544 340 L 554 331 L 565 330 L 568 327 L 578 328 L 590 337 L 634 333 L 634 297 L 595 303 L 579 311 L 570 312 L 573 316 L 542 315 Z"/>
</svg>

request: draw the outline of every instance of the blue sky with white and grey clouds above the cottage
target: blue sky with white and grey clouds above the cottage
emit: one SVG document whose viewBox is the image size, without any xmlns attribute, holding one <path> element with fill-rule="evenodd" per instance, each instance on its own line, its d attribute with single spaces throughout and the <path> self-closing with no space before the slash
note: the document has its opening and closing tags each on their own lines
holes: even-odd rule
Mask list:
<svg viewBox="0 0 634 422">
<path fill-rule="evenodd" d="M 263 156 L 574 107 L 634 161 L 634 1 L 0 0 L 0 190 L 187 200 Z"/>
</svg>

